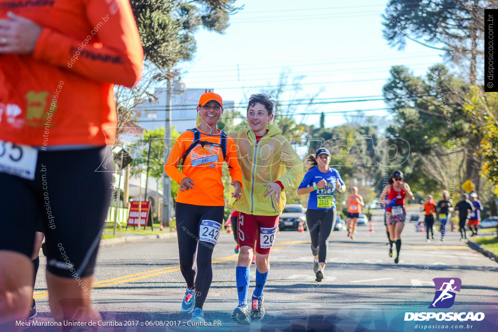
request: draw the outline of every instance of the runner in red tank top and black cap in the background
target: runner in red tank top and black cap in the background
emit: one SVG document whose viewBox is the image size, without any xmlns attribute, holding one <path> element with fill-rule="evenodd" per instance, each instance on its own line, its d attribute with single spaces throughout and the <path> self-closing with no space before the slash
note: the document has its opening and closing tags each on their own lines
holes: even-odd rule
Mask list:
<svg viewBox="0 0 498 332">
<path fill-rule="evenodd" d="M 387 199 L 386 199 L 387 195 Z M 403 182 L 403 173 L 399 170 L 392 172 L 391 177 L 387 180 L 387 186 L 380 195 L 380 203 L 387 206 L 386 222 L 389 229 L 389 237 L 396 244 L 396 258 L 394 263 L 399 262 L 399 251 L 401 250 L 401 232 L 403 231 L 406 220 L 405 196 L 408 195 L 410 200 L 415 197 L 410 190 L 410 186 Z M 389 249 L 389 257 L 392 257 L 392 248 Z"/>
</svg>

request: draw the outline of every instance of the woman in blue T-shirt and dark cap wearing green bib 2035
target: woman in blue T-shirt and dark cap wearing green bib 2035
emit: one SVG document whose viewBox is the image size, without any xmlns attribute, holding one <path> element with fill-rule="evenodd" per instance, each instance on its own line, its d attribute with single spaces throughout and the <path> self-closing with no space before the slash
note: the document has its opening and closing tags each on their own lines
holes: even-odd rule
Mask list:
<svg viewBox="0 0 498 332">
<path fill-rule="evenodd" d="M 335 168 L 330 168 L 330 151 L 320 148 L 307 158 L 311 167 L 297 189 L 299 195 L 310 194 L 306 224 L 311 236 L 311 252 L 315 257 L 313 272 L 322 281 L 327 258 L 328 238 L 336 222 L 334 191 L 344 192 L 346 185 Z"/>
</svg>

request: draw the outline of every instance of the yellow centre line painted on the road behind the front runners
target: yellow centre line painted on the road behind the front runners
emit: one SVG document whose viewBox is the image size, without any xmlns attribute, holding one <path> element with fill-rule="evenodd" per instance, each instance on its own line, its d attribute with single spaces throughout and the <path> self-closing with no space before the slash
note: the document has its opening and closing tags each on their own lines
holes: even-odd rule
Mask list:
<svg viewBox="0 0 498 332">
<path fill-rule="evenodd" d="M 295 242 L 291 241 L 291 242 L 285 242 L 285 243 L 286 244 L 294 244 L 296 242 L 301 242 L 301 241 L 295 241 Z M 278 243 L 278 244 L 280 244 L 280 243 Z M 286 246 L 274 247 L 274 248 L 272 248 L 272 251 L 279 250 L 279 249 L 282 249 L 285 247 Z M 211 263 L 216 264 L 216 263 L 220 263 L 220 262 L 235 260 L 238 258 L 239 258 L 239 255 L 235 254 L 235 255 L 230 255 L 230 256 L 226 256 L 226 257 L 222 257 L 222 258 L 213 259 L 211 261 Z M 92 286 L 93 286 L 93 288 L 102 288 L 102 287 L 106 287 L 106 286 L 112 286 L 112 285 L 122 284 L 122 283 L 126 283 L 126 282 L 136 281 L 136 280 L 145 279 L 145 278 L 153 277 L 156 275 L 165 274 L 165 273 L 174 272 L 174 271 L 179 271 L 179 270 L 180 270 L 180 265 L 176 265 L 176 266 L 165 267 L 162 269 L 155 269 L 155 270 L 143 271 L 143 272 L 138 272 L 138 273 L 131 273 L 128 275 L 117 277 L 117 278 L 96 281 L 92 284 Z M 37 295 L 33 296 L 34 299 L 39 299 L 39 298 L 48 296 L 48 291 L 36 291 L 33 294 L 35 294 L 35 293 Z M 42 293 L 42 294 L 40 294 L 40 293 Z"/>
</svg>

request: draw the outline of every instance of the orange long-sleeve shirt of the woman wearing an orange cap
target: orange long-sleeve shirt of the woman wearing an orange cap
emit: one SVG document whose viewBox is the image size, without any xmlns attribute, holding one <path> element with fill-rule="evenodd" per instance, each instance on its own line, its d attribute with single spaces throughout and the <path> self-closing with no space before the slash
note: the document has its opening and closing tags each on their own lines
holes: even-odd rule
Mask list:
<svg viewBox="0 0 498 332">
<path fill-rule="evenodd" d="M 225 206 L 223 191 L 225 187 L 221 182 L 223 153 L 220 147 L 198 144 L 190 151 L 183 161 L 182 172 L 178 170 L 180 158 L 194 141 L 192 131 L 183 132 L 176 140 L 169 154 L 164 171 L 175 182 L 180 183 L 188 177 L 194 181 L 194 189 L 180 191 L 176 202 L 201 206 Z M 210 135 L 201 131 L 201 141 L 220 143 L 221 134 Z M 237 145 L 234 140 L 227 137 L 227 158 L 232 181 L 239 181 L 242 186 L 242 171 L 237 160 Z"/>
</svg>

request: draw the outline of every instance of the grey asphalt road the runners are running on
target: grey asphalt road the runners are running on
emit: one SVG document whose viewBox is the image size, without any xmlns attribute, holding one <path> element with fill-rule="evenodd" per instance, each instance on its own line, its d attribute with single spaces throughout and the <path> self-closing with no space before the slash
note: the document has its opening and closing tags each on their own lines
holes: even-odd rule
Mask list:
<svg viewBox="0 0 498 332">
<path fill-rule="evenodd" d="M 333 324 L 335 331 L 387 328 L 395 331 L 392 325 L 395 317 L 391 316 L 427 310 L 435 292 L 432 279 L 437 277 L 462 280 L 452 310 L 496 311 L 496 262 L 471 250 L 459 240 L 458 232 L 449 232 L 444 242 L 427 243 L 425 233 L 417 232 L 415 224 L 407 222 L 402 233 L 400 261 L 394 264 L 387 255 L 382 218 L 373 218 L 374 232 L 369 232 L 368 225 L 359 227 L 356 240 L 347 238 L 345 231 L 333 232 L 329 238 L 325 279 L 321 283 L 315 281 L 312 271 L 309 233 L 277 234 L 264 292 L 266 316 L 246 329 L 321 331 Z M 439 232 L 435 233 L 437 238 Z M 240 329 L 230 320 L 237 306 L 234 247 L 233 235 L 223 233 L 215 248 L 213 283 L 204 312 L 207 322 L 221 324 L 221 328 L 211 331 Z M 45 262 L 41 256 L 40 271 Z M 114 331 L 182 330 L 164 325 L 187 325 L 190 315 L 180 312 L 185 283 L 178 263 L 176 238 L 101 247 L 93 301 L 107 321 L 121 324 L 129 321 L 132 325 Z M 251 290 L 254 279 L 253 266 Z M 50 321 L 43 273 L 38 274 L 35 296 L 39 312 L 36 320 Z M 369 317 L 380 321 L 369 327 Z M 151 322 L 160 327 L 147 327 Z"/>
</svg>

